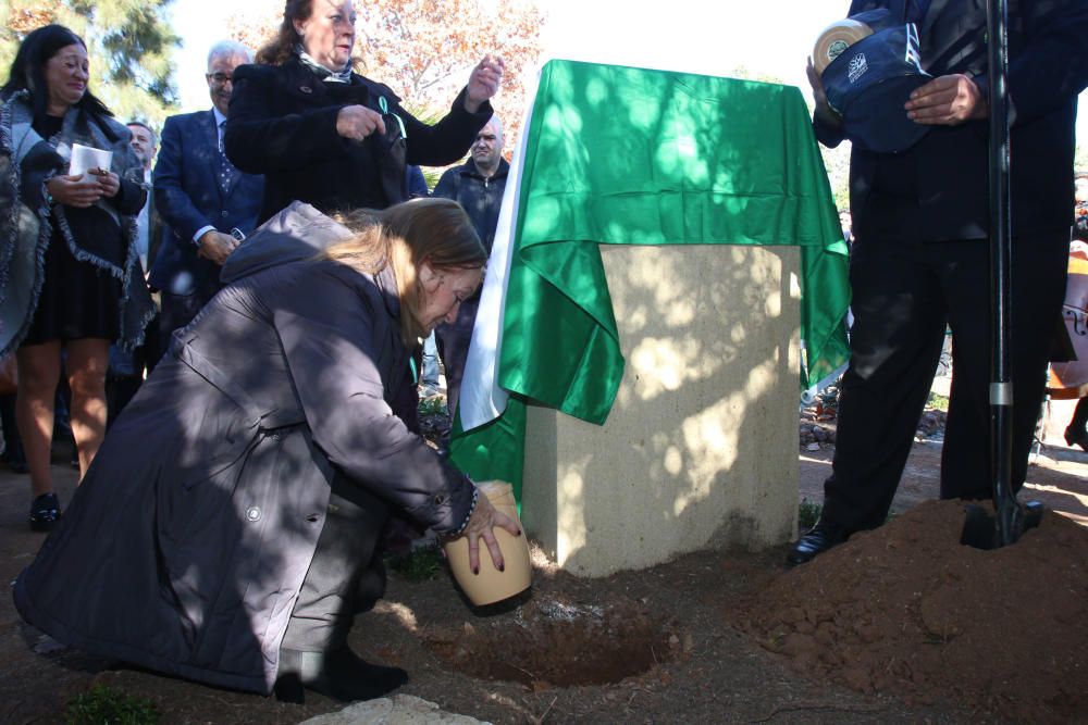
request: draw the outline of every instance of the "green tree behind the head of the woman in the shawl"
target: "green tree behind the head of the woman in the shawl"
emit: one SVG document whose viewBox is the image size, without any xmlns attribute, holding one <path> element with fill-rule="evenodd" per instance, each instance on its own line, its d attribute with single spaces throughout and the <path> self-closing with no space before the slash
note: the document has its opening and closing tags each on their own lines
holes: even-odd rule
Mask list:
<svg viewBox="0 0 1088 725">
<path fill-rule="evenodd" d="M 0 0 L 0 74 L 26 35 L 48 23 L 71 28 L 90 57 L 90 88 L 116 117 L 158 127 L 177 104 L 170 57 L 178 46 L 171 0 Z"/>
</svg>

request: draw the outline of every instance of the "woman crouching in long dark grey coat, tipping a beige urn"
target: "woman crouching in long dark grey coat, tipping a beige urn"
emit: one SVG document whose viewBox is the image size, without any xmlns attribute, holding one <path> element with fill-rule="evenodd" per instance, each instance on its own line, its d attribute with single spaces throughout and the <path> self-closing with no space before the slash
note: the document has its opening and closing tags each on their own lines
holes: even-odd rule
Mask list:
<svg viewBox="0 0 1088 725">
<path fill-rule="evenodd" d="M 347 226 L 298 203 L 272 217 L 111 428 L 15 584 L 23 617 L 79 649 L 284 699 L 407 682 L 347 646 L 384 591 L 391 515 L 467 536 L 473 568 L 481 539 L 502 567 L 494 526 L 520 533 L 406 424 L 411 352 L 485 262 L 444 199 Z"/>
</svg>

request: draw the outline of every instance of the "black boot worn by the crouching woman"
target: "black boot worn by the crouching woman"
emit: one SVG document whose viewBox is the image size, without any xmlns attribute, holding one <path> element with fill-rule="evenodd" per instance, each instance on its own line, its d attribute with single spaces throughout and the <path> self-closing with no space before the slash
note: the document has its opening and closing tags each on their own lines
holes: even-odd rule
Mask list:
<svg viewBox="0 0 1088 725">
<path fill-rule="evenodd" d="M 304 702 L 304 688 L 341 702 L 373 700 L 408 682 L 400 667 L 363 662 L 349 648 L 329 652 L 280 651 L 280 674 L 273 692 L 283 702 Z"/>
</svg>

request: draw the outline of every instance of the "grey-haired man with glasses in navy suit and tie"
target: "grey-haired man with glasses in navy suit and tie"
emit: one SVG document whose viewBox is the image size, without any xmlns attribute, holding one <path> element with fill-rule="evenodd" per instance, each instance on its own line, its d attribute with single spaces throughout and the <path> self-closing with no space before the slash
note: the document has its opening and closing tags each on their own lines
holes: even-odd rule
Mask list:
<svg viewBox="0 0 1088 725">
<path fill-rule="evenodd" d="M 156 209 L 169 229 L 148 282 L 162 293 L 163 351 L 174 330 L 222 287 L 220 267 L 238 245 L 232 230 L 249 234 L 257 226 L 263 177 L 238 171 L 222 151 L 234 70 L 249 62 L 249 50 L 240 43 L 213 46 L 206 76 L 212 109 L 171 116 L 162 128 L 153 187 Z"/>
</svg>

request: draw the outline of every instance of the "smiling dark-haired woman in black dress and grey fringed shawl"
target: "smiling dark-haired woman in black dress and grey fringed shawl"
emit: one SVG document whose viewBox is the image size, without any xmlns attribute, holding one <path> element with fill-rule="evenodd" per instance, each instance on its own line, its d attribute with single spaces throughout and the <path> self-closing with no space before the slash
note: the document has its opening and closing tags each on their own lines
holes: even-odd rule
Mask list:
<svg viewBox="0 0 1088 725">
<path fill-rule="evenodd" d="M 153 314 L 135 247 L 143 170 L 88 79 L 83 40 L 47 25 L 23 40 L 0 88 L 0 213 L 18 220 L 0 238 L 0 357 L 17 350 L 36 530 L 60 516 L 49 458 L 62 355 L 82 477 L 106 430 L 110 343 L 137 345 Z M 69 175 L 76 143 L 111 151 L 110 167 Z"/>
</svg>

